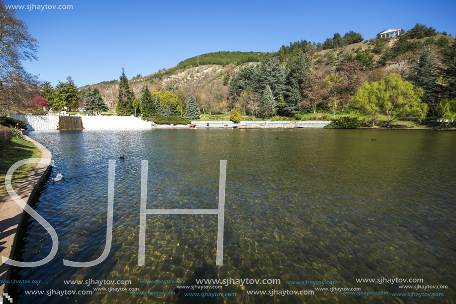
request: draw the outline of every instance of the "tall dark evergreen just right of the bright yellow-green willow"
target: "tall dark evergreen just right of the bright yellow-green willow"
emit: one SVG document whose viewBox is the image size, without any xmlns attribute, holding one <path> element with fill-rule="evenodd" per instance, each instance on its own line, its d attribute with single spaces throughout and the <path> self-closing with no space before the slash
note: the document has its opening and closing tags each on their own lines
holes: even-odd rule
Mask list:
<svg viewBox="0 0 456 304">
<path fill-rule="evenodd" d="M 416 88 L 421 88 L 424 94 L 421 100 L 426 102 L 433 116 L 437 114 L 436 88 L 439 77 L 437 65 L 434 63 L 431 49 L 423 49 L 419 54 L 418 62 L 412 67 L 405 80 L 411 82 Z"/>
</svg>

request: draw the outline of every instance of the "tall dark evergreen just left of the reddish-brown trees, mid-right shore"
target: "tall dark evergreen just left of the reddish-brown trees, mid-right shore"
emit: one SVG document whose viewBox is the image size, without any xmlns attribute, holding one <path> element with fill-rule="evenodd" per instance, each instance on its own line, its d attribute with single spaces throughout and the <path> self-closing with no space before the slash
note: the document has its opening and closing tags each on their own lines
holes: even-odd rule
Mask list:
<svg viewBox="0 0 456 304">
<path fill-rule="evenodd" d="M 299 103 L 303 101 L 301 85 L 310 75 L 310 58 L 299 52 L 296 60 L 286 77 L 285 105 L 283 114 L 294 115 L 299 110 Z"/>
</svg>

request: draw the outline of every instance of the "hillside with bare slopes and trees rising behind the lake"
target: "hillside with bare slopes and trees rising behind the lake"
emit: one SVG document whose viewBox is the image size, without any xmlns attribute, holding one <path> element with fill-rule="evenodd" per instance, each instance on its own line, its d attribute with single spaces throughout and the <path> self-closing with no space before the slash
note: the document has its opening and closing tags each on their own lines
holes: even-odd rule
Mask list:
<svg viewBox="0 0 456 304">
<path fill-rule="evenodd" d="M 344 111 L 363 84 L 398 74 L 425 92 L 421 99 L 428 113 L 437 115 L 440 101 L 456 96 L 451 85 L 456 83 L 455 37 L 420 23 L 395 37 L 381 37 L 381 32 L 370 39 L 354 31 L 334 33 L 323 43 L 300 40 L 282 45 L 277 52 L 202 54 L 145 77 L 138 74 L 130 79 L 130 87 L 138 99 L 147 85 L 152 92 L 174 91 L 183 107 L 192 94 L 203 112 L 239 108 L 252 116 L 269 116 L 258 105 L 269 87 L 274 109 L 290 116 L 315 112 L 318 107 L 335 108 L 332 103 Z M 135 71 L 125 72 L 135 75 Z M 117 83 L 93 87 L 106 101 L 117 102 Z"/>
</svg>

